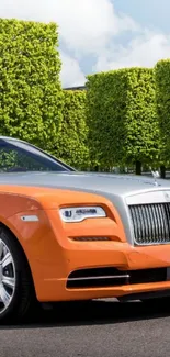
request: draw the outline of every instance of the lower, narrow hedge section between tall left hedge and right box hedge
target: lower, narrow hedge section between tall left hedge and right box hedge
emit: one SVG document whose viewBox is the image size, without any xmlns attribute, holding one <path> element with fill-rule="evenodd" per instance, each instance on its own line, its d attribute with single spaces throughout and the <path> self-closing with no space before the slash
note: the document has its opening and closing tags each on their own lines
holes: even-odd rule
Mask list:
<svg viewBox="0 0 170 357">
<path fill-rule="evenodd" d="M 88 126 L 86 121 L 86 92 L 64 91 L 64 111 L 57 138 L 57 155 L 68 165 L 87 168 Z"/>
</svg>

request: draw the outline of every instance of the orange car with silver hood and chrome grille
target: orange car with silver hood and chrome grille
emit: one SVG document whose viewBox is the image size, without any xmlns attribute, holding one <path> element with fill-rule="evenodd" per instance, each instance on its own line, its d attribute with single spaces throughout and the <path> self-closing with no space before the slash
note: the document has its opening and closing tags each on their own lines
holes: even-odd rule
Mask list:
<svg viewBox="0 0 170 357">
<path fill-rule="evenodd" d="M 0 137 L 0 321 L 32 301 L 170 294 L 170 183 L 79 172 Z"/>
</svg>

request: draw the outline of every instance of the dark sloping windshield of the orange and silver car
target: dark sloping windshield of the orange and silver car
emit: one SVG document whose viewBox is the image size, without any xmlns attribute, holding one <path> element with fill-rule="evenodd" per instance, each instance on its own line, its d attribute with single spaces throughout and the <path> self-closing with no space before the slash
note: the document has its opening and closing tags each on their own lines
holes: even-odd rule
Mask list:
<svg viewBox="0 0 170 357">
<path fill-rule="evenodd" d="M 15 140 L 0 138 L 0 172 L 75 171 L 39 148 Z"/>
</svg>

